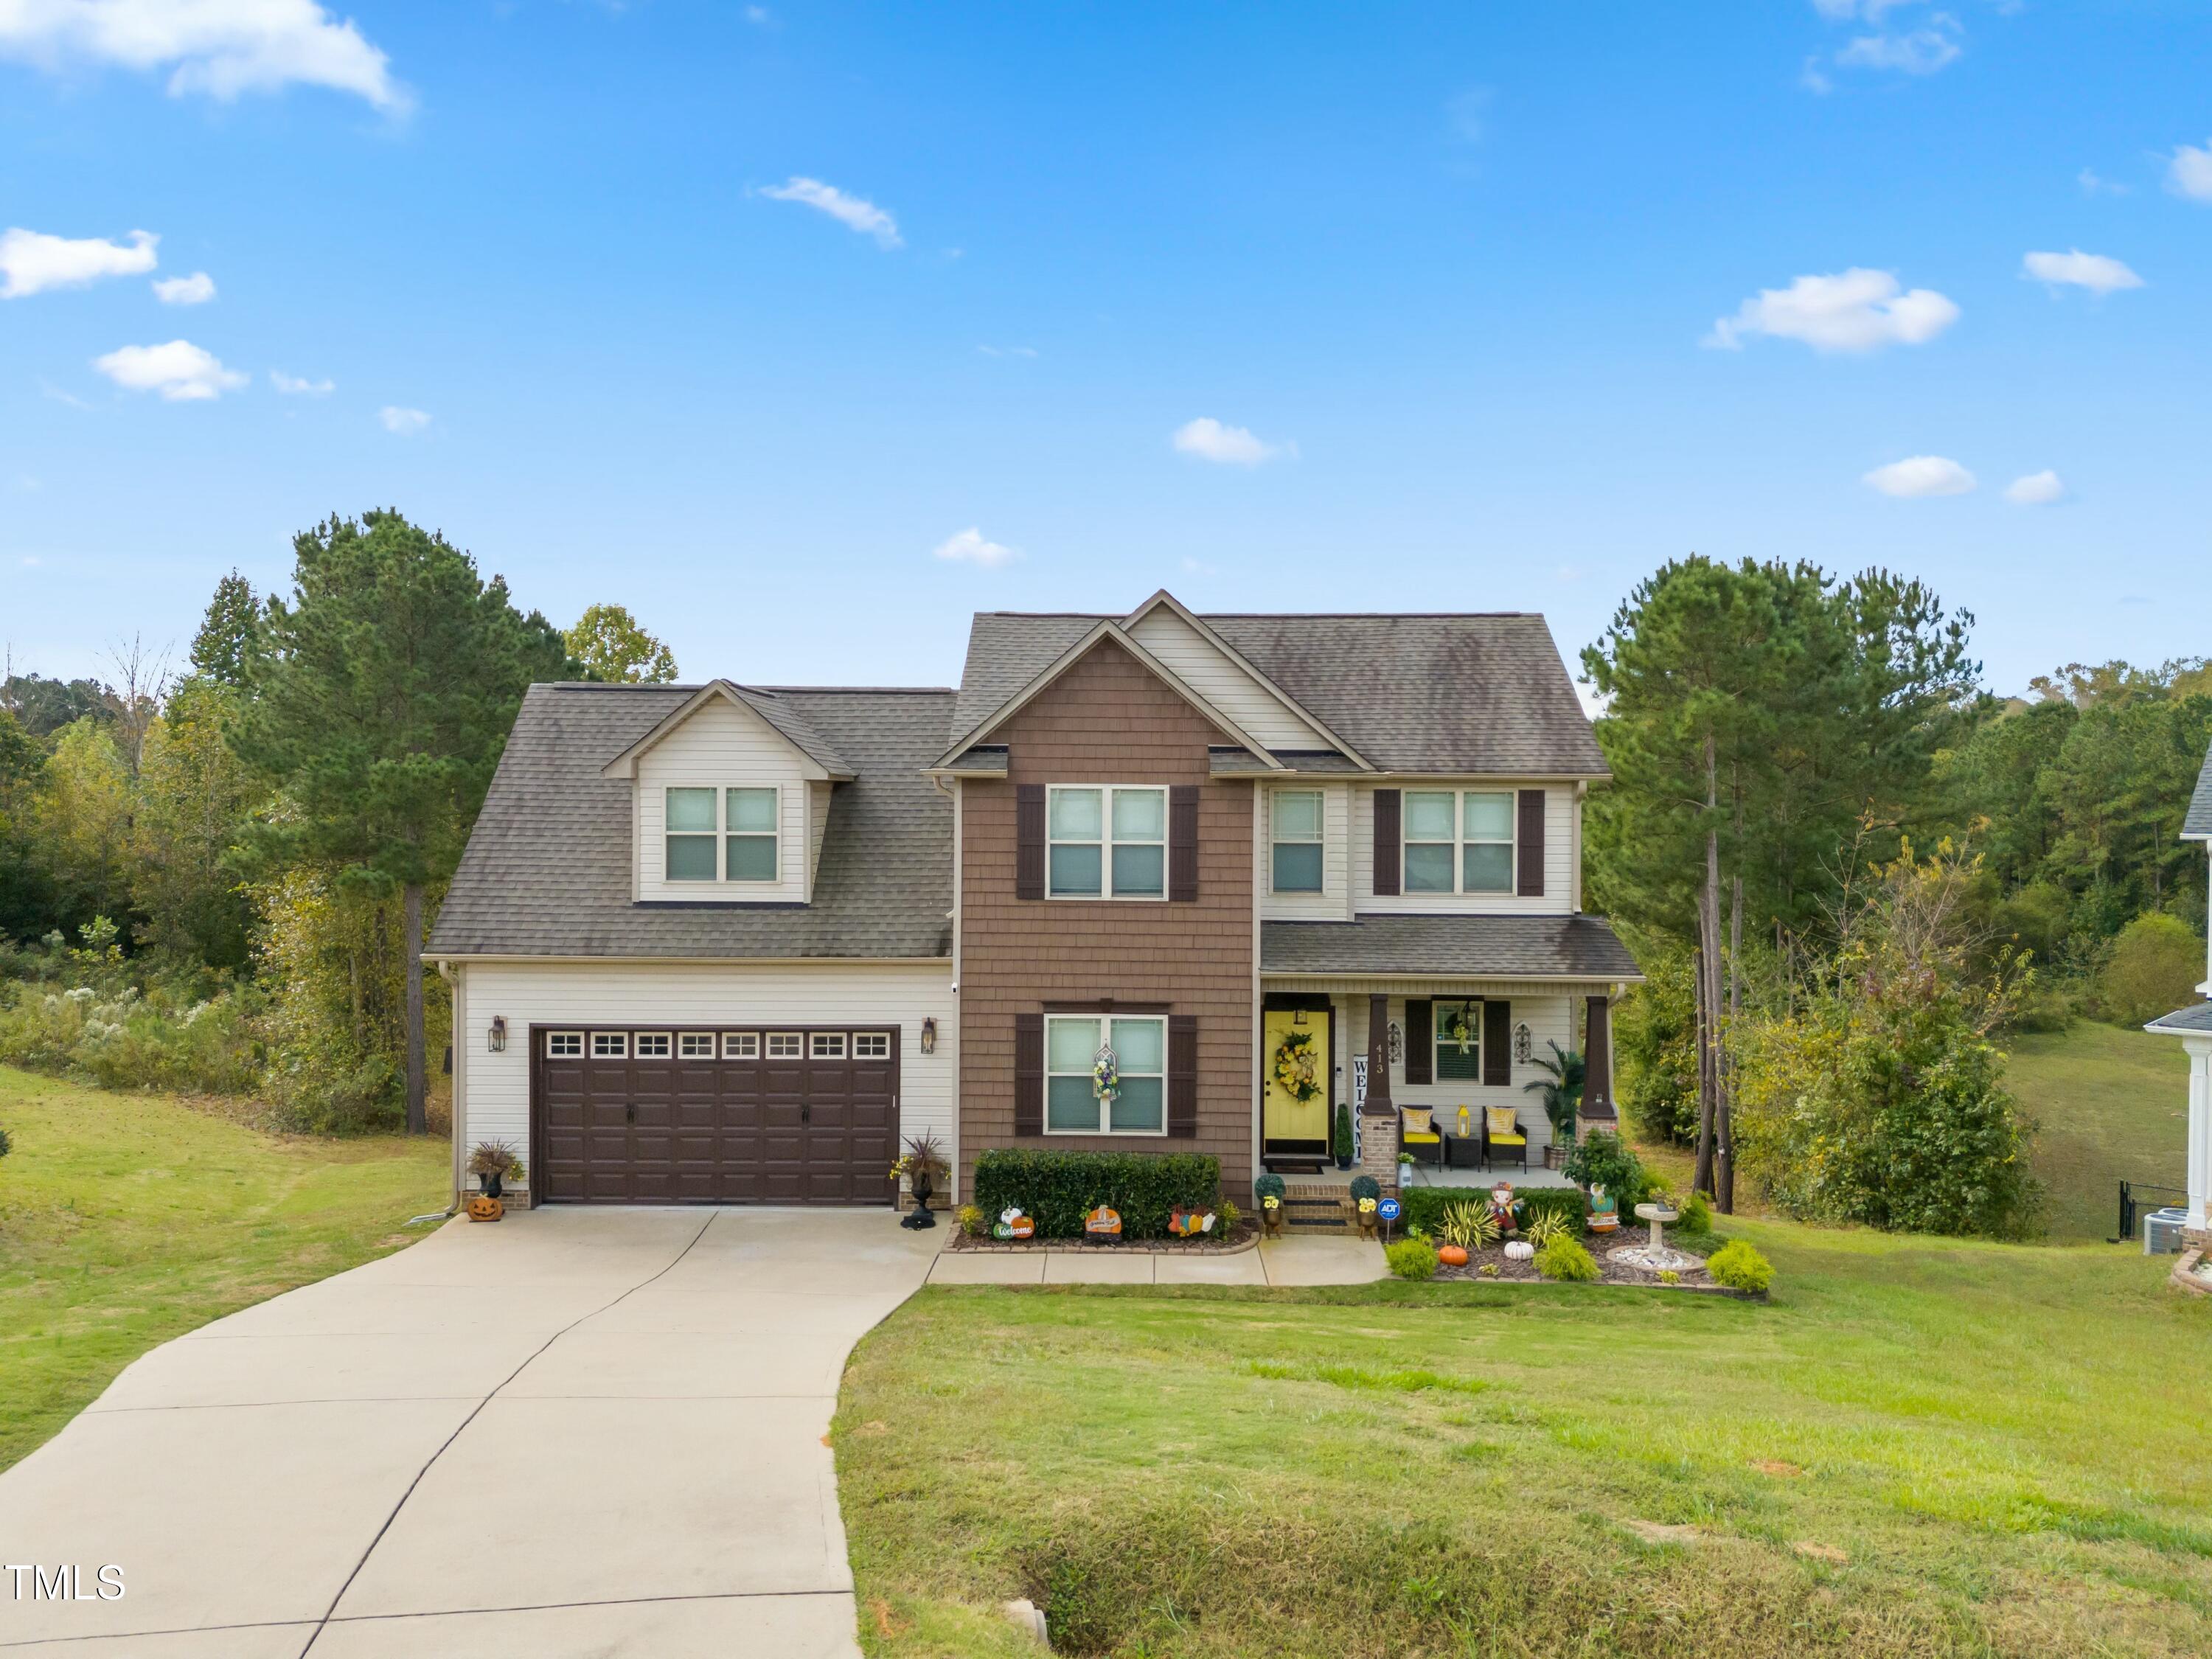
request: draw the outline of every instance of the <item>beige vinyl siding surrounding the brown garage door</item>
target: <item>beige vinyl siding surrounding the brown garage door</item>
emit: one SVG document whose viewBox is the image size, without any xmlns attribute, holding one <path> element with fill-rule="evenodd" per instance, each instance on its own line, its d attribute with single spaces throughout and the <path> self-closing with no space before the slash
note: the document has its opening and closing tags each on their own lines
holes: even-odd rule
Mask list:
<svg viewBox="0 0 2212 1659">
<path fill-rule="evenodd" d="M 529 1144 L 531 1024 L 591 1026 L 898 1026 L 898 1133 L 936 1135 L 953 1168 L 960 1033 L 951 964 L 765 962 L 465 962 L 462 1037 L 453 1088 L 456 1137 Z M 507 1048 L 491 1053 L 493 1015 L 507 1018 Z M 938 1051 L 922 1053 L 922 1020 L 938 1022 Z M 467 1048 L 467 1068 L 460 1064 Z"/>
</svg>

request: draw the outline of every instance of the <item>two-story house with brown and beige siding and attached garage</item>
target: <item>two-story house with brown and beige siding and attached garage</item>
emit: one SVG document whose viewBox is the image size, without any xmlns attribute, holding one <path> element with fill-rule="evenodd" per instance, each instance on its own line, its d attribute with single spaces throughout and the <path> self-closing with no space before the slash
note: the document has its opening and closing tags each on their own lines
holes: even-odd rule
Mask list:
<svg viewBox="0 0 2212 1659">
<path fill-rule="evenodd" d="M 902 1137 L 1199 1150 L 1511 1106 L 1615 998 L 1542 617 L 984 613 L 960 690 L 533 686 L 431 933 L 531 1201 L 865 1203 Z M 1274 1082 L 1285 1040 L 1318 1099 Z M 1093 1062 L 1110 1046 L 1119 1093 Z M 1305 1093 L 1305 1091 L 1298 1091 Z"/>
</svg>

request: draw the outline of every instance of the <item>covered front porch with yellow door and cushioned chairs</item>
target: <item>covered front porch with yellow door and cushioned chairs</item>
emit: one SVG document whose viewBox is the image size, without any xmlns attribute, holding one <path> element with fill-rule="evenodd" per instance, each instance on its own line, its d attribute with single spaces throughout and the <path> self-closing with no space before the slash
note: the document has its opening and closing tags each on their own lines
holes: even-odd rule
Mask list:
<svg viewBox="0 0 2212 1659">
<path fill-rule="evenodd" d="M 1610 1009 L 1637 978 L 1588 916 L 1265 922 L 1259 1166 L 1316 1188 L 1566 1186 L 1575 1121 L 1553 1124 L 1544 1084 L 1579 1055 L 1582 1121 L 1617 1121 Z"/>
</svg>

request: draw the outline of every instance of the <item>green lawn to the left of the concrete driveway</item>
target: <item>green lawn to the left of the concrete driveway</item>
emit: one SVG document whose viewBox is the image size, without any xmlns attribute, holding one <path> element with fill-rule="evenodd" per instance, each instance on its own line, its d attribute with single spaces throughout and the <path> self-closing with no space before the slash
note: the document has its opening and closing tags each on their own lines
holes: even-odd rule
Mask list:
<svg viewBox="0 0 2212 1659">
<path fill-rule="evenodd" d="M 0 1066 L 0 1469 L 155 1343 L 387 1254 L 442 1141 L 270 1137 Z"/>
</svg>

